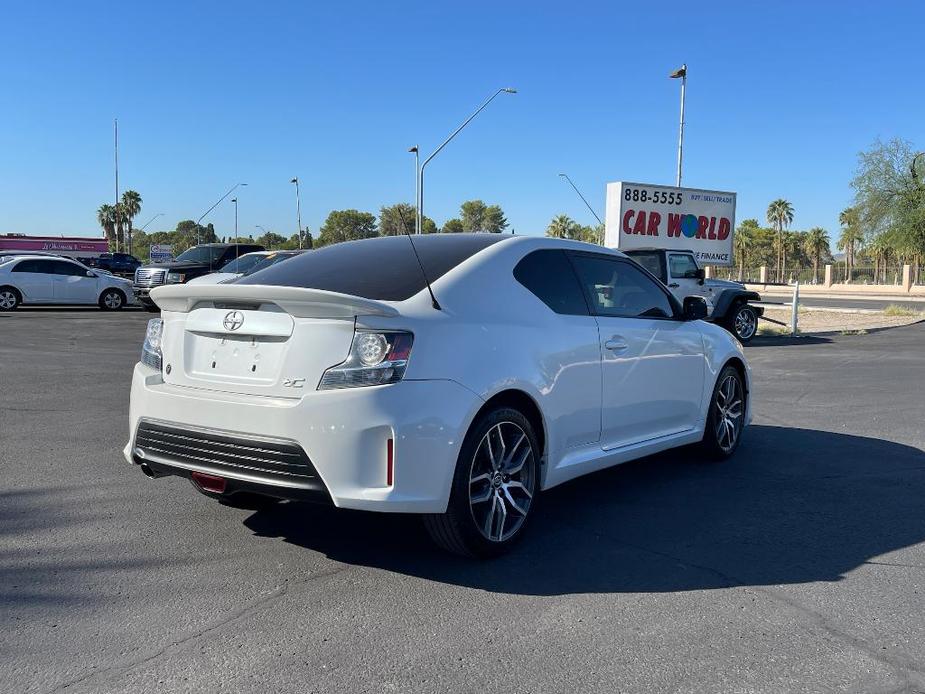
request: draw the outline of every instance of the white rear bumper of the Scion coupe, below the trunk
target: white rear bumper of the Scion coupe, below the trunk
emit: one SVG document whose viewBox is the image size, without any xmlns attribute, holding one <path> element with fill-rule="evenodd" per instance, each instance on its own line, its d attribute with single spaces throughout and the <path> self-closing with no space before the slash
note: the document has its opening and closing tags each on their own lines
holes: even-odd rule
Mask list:
<svg viewBox="0 0 925 694">
<path fill-rule="evenodd" d="M 453 381 L 402 381 L 388 386 L 313 391 L 299 399 L 241 396 L 165 384 L 160 374 L 136 364 L 132 379 L 126 460 L 220 474 L 250 491 L 300 498 L 319 492 L 335 506 L 411 513 L 446 510 L 462 439 L 481 399 Z M 320 485 L 261 479 L 209 455 L 151 457 L 143 452 L 139 424 L 157 422 L 177 430 L 219 432 L 243 442 L 285 440 L 301 447 Z M 388 441 L 393 441 L 393 480 L 388 484 Z M 141 455 L 140 455 L 141 454 Z M 147 459 L 146 459 L 147 458 Z M 264 475 L 264 477 L 266 477 Z"/>
</svg>

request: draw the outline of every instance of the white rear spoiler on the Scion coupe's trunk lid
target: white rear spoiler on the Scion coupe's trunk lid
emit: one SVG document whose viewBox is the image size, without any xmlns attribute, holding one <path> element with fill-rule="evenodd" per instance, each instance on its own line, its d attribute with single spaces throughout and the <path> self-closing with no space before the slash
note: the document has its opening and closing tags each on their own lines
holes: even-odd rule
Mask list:
<svg viewBox="0 0 925 694">
<path fill-rule="evenodd" d="M 180 313 L 189 313 L 196 304 L 216 301 L 227 304 L 272 303 L 301 318 L 399 315 L 394 306 L 383 301 L 323 289 L 267 284 L 164 285 L 151 290 L 151 299 L 164 311 Z"/>
</svg>

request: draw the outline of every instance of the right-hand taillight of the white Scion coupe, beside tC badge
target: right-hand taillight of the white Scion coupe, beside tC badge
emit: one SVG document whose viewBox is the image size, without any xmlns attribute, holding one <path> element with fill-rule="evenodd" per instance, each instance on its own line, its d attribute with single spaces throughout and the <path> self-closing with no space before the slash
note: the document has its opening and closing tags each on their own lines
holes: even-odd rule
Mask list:
<svg viewBox="0 0 925 694">
<path fill-rule="evenodd" d="M 400 381 L 408 367 L 414 336 L 407 332 L 357 330 L 350 354 L 324 372 L 318 390 L 381 386 Z"/>
</svg>

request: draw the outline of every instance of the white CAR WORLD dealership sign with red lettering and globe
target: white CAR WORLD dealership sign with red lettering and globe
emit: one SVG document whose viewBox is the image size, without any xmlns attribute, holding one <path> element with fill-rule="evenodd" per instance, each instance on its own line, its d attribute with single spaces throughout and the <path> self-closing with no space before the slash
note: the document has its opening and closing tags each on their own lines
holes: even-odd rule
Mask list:
<svg viewBox="0 0 925 694">
<path fill-rule="evenodd" d="M 732 265 L 735 202 L 716 190 L 608 183 L 604 245 L 693 251 L 701 265 Z"/>
</svg>

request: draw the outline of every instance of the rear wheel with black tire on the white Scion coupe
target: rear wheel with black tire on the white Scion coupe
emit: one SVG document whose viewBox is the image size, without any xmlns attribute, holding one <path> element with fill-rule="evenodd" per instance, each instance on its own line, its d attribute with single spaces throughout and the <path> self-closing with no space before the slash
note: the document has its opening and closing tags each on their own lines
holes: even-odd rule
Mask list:
<svg viewBox="0 0 925 694">
<path fill-rule="evenodd" d="M 423 517 L 434 542 L 480 559 L 509 551 L 535 514 L 541 455 L 522 413 L 499 407 L 481 414 L 460 449 L 446 513 Z"/>
</svg>

